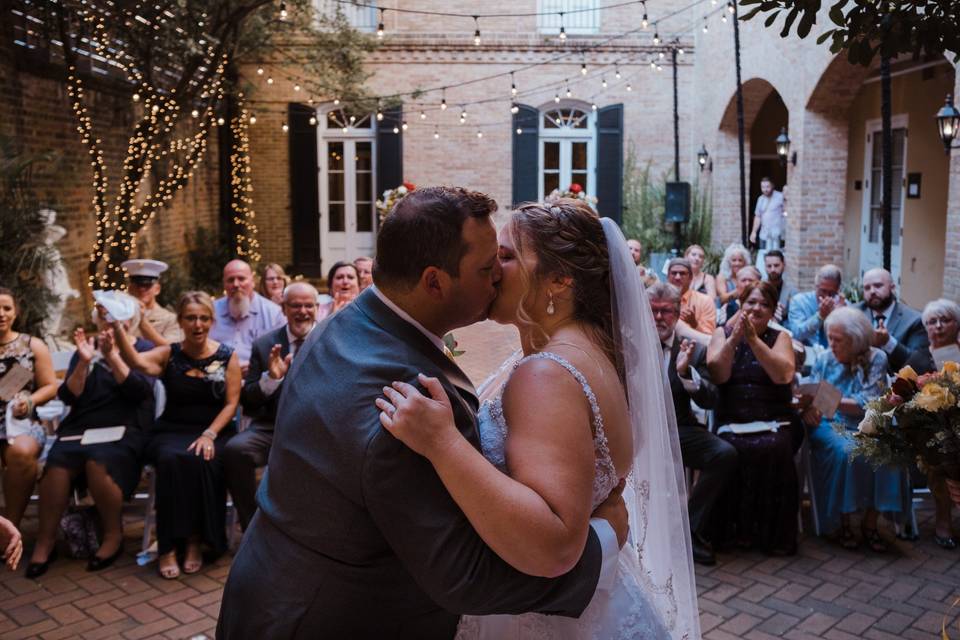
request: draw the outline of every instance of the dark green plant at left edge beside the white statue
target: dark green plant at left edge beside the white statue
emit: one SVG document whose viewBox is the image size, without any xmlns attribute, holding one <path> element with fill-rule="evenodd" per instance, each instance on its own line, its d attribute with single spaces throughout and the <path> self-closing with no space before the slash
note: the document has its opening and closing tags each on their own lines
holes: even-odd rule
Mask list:
<svg viewBox="0 0 960 640">
<path fill-rule="evenodd" d="M 0 137 L 0 286 L 13 291 L 20 307 L 18 329 L 41 335 L 41 326 L 57 301 L 44 282 L 55 266 L 53 250 L 43 243 L 45 203 L 37 197 L 33 178 L 51 170 L 58 157 L 52 152 L 24 154 L 12 141 Z"/>
</svg>

